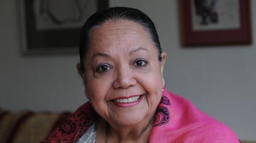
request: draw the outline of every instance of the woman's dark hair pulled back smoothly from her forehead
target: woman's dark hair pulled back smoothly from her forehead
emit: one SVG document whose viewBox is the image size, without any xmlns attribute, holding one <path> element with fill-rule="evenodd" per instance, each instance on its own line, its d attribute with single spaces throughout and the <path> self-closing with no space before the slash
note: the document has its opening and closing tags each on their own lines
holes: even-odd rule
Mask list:
<svg viewBox="0 0 256 143">
<path fill-rule="evenodd" d="M 101 26 L 108 20 L 127 19 L 141 24 L 149 33 L 150 38 L 153 40 L 158 50 L 158 60 L 162 61 L 162 48 L 159 42 L 157 31 L 154 22 L 143 12 L 138 9 L 129 7 L 111 7 L 107 10 L 96 12 L 90 16 L 85 22 L 80 33 L 80 72 L 84 73 L 84 57 L 88 51 L 88 45 L 90 42 L 90 33 L 93 29 Z"/>
</svg>

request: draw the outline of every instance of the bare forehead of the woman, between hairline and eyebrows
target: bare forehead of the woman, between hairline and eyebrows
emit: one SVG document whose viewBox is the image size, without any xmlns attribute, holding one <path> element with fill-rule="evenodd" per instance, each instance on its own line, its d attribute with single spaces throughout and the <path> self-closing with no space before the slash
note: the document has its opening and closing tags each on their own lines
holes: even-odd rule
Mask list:
<svg viewBox="0 0 256 143">
<path fill-rule="evenodd" d="M 154 47 L 149 33 L 140 23 L 131 20 L 110 20 L 92 30 L 89 51 L 115 48 Z"/>
</svg>

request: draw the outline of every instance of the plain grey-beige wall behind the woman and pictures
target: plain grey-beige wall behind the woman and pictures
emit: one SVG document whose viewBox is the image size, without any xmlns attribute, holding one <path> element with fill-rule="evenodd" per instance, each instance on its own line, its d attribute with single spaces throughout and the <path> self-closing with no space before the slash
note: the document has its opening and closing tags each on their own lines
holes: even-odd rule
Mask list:
<svg viewBox="0 0 256 143">
<path fill-rule="evenodd" d="M 256 140 L 256 45 L 182 48 L 178 1 L 111 0 L 156 23 L 167 53 L 166 86 L 233 129 Z M 251 1 L 252 18 L 256 1 Z M 78 55 L 21 55 L 18 0 L 0 1 L 0 106 L 9 110 L 75 110 L 86 101 Z M 252 19 L 252 28 L 256 19 Z M 252 33 L 255 30 L 252 29 Z M 255 38 L 253 38 L 255 41 Z"/>
</svg>

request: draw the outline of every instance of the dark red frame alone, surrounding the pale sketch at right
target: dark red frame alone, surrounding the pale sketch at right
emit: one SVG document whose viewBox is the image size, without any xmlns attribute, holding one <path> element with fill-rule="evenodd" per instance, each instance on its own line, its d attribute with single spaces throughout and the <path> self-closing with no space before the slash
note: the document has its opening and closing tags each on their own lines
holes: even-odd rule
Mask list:
<svg viewBox="0 0 256 143">
<path fill-rule="evenodd" d="M 180 0 L 180 18 L 181 18 L 180 26 L 181 26 L 182 46 L 230 45 L 230 44 L 251 44 L 252 43 L 251 18 L 250 18 L 251 15 L 250 15 L 249 0 L 233 0 L 234 3 L 236 2 L 236 4 L 234 5 L 238 7 L 237 8 L 238 12 L 236 16 L 239 16 L 239 17 L 234 18 L 234 15 L 233 15 L 233 17 L 230 17 L 230 20 L 234 20 L 234 19 L 237 20 L 237 26 L 235 26 L 235 24 L 234 26 L 232 25 L 235 22 L 228 23 L 228 21 L 226 21 L 226 25 L 229 25 L 229 24 L 231 25 L 230 28 L 228 27 L 228 28 L 216 28 L 216 29 L 214 29 L 214 24 L 212 24 L 213 25 L 212 28 L 203 29 L 205 27 L 205 22 L 207 24 L 207 21 L 206 21 L 207 19 L 205 18 L 205 15 L 207 14 L 204 14 L 204 17 L 202 16 L 204 13 L 202 12 L 202 6 L 201 6 L 202 4 L 199 5 L 198 1 L 197 3 L 196 1 L 197 0 Z M 202 1 L 199 0 L 199 2 L 202 2 Z M 217 1 L 216 3 L 218 2 L 223 3 L 224 1 Z M 196 9 L 198 8 L 198 6 L 201 6 L 199 7 L 200 9 Z M 227 8 L 225 8 L 225 4 L 221 6 L 222 6 L 222 9 L 225 9 L 225 11 L 230 9 L 228 5 L 226 5 Z M 223 12 L 219 14 L 223 14 Z M 196 17 L 195 15 L 201 17 L 200 23 L 194 24 L 195 20 L 193 20 L 193 18 L 199 19 L 199 17 Z M 214 19 L 212 21 L 214 21 Z M 216 21 L 218 20 L 215 20 L 215 22 Z M 219 22 L 218 24 L 221 26 L 220 24 L 221 21 L 218 21 L 218 22 Z M 224 27 L 225 22 L 223 23 L 224 23 L 223 24 L 223 27 Z M 198 28 L 199 30 L 195 29 L 196 26 L 199 27 Z"/>
</svg>

